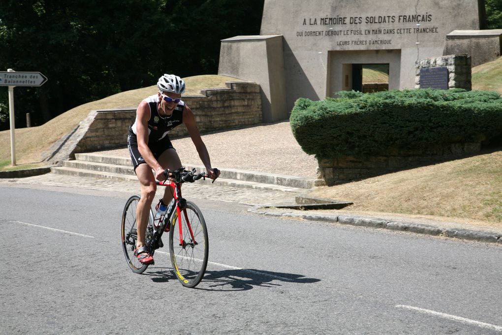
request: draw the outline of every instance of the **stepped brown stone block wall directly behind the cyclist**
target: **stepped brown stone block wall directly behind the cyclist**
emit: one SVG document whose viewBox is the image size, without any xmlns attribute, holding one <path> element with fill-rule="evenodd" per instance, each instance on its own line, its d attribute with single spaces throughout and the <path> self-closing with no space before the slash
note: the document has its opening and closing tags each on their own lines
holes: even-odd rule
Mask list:
<svg viewBox="0 0 502 335">
<path fill-rule="evenodd" d="M 253 82 L 227 82 L 228 88 L 210 88 L 199 95 L 183 96 L 192 109 L 201 133 L 262 123 L 260 85 Z M 93 110 L 75 134 L 81 134 L 71 151 L 75 153 L 120 148 L 127 145 L 129 126 L 136 117 L 136 107 Z M 188 135 L 184 125 L 170 132 L 170 137 Z M 69 139 L 65 139 L 67 142 Z M 71 142 L 71 141 L 70 141 Z M 59 159 L 58 159 L 59 161 Z"/>
</svg>

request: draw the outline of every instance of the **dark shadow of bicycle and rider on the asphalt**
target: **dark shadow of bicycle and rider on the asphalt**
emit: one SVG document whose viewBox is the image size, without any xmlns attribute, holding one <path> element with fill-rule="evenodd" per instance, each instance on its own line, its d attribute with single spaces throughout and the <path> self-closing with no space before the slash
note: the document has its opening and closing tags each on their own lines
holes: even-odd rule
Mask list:
<svg viewBox="0 0 502 335">
<path fill-rule="evenodd" d="M 173 269 L 165 268 L 163 271 L 149 273 L 157 276 L 152 281 L 157 283 L 178 280 Z M 281 283 L 311 284 L 321 281 L 317 278 L 307 278 L 300 274 L 272 272 L 256 269 L 232 269 L 221 271 L 206 270 L 201 283 L 195 287 L 206 291 L 246 291 L 255 287 L 279 287 Z"/>
</svg>

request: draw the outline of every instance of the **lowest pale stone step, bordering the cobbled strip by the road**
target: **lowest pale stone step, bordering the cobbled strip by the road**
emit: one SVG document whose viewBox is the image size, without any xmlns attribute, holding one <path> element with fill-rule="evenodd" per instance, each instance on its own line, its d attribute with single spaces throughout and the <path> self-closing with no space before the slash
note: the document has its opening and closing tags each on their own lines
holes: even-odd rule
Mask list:
<svg viewBox="0 0 502 335">
<path fill-rule="evenodd" d="M 72 161 L 72 162 L 75 162 L 75 161 Z M 102 164 L 102 163 L 94 163 L 94 164 L 100 164 L 99 166 L 107 165 L 107 164 Z M 117 181 L 138 181 L 138 179 L 136 178 L 136 175 L 134 175 L 134 174 L 131 175 L 131 174 L 124 174 L 124 173 L 114 173 L 114 172 L 107 172 L 107 171 L 82 169 L 82 168 L 72 167 L 71 165 L 68 165 L 68 166 L 64 165 L 61 167 L 53 167 L 53 168 L 51 168 L 51 172 L 55 173 L 55 174 L 72 175 L 72 176 L 78 176 L 78 177 L 93 177 L 93 178 L 111 179 L 111 180 L 117 180 Z M 200 179 L 196 182 L 200 182 L 203 184 L 209 184 L 212 182 L 212 180 Z M 282 186 L 282 185 L 263 184 L 263 183 L 257 183 L 257 182 L 252 182 L 252 181 L 245 181 L 245 180 L 232 180 L 232 179 L 225 179 L 225 178 L 221 178 L 221 177 L 215 181 L 215 184 L 216 183 L 221 186 L 231 186 L 231 187 L 236 187 L 236 188 L 250 188 L 250 189 L 257 189 L 257 190 L 282 191 L 282 192 L 294 192 L 294 193 L 304 193 L 305 192 L 305 189 L 303 189 L 303 188 L 289 187 L 289 186 Z"/>
</svg>

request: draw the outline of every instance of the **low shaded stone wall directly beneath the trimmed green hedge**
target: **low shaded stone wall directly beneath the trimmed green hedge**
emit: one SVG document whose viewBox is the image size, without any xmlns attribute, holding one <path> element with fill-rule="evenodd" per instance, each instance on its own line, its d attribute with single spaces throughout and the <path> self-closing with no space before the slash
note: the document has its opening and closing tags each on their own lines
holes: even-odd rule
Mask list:
<svg viewBox="0 0 502 335">
<path fill-rule="evenodd" d="M 426 166 L 479 153 L 481 142 L 450 143 L 427 149 L 394 150 L 387 155 L 357 159 L 345 156 L 319 161 L 318 178 L 326 185 L 383 175 L 400 170 Z"/>
</svg>

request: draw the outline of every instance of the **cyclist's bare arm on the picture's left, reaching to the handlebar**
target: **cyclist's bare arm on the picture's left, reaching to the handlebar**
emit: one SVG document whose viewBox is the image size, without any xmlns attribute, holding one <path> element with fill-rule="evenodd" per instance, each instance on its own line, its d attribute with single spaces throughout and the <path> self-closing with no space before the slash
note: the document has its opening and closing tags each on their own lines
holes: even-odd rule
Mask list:
<svg viewBox="0 0 502 335">
<path fill-rule="evenodd" d="M 155 179 L 163 181 L 164 168 L 157 162 L 152 151 L 148 147 L 148 120 L 150 119 L 150 106 L 148 102 L 141 101 L 136 111 L 136 137 L 138 139 L 138 150 L 145 162 L 155 171 Z"/>
</svg>

